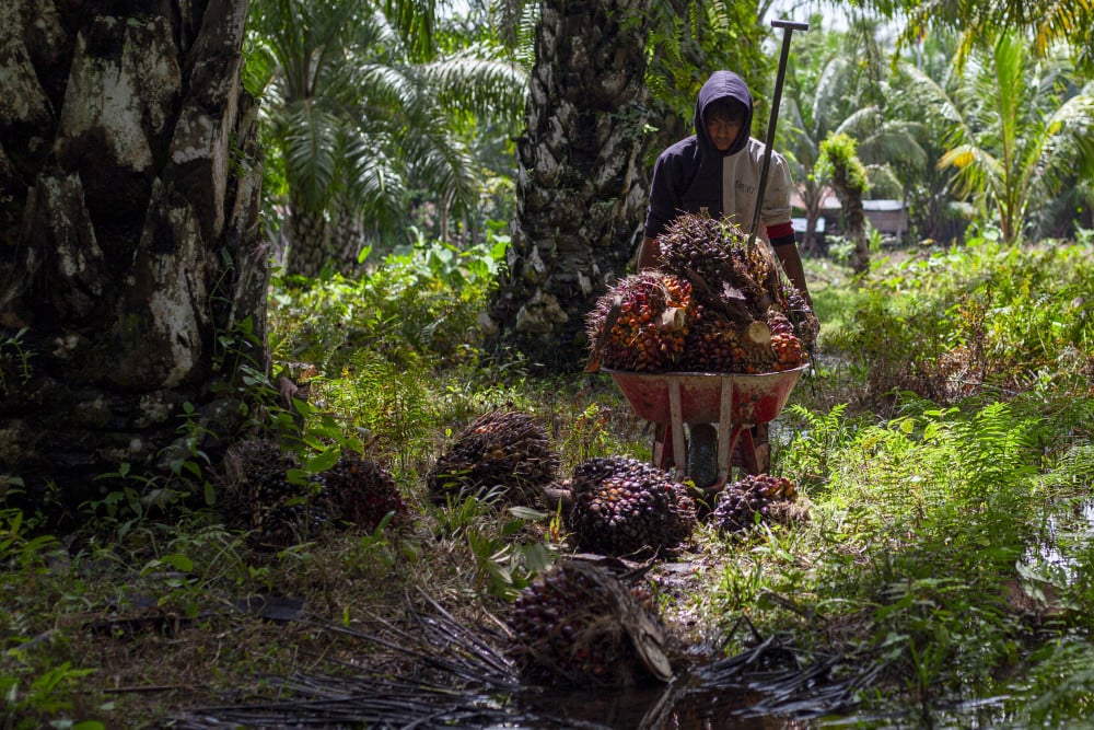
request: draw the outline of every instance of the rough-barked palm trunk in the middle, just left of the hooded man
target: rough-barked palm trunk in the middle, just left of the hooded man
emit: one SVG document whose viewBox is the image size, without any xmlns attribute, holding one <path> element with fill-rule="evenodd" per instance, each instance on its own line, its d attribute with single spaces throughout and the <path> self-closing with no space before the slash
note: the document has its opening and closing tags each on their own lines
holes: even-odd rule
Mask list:
<svg viewBox="0 0 1094 730">
<path fill-rule="evenodd" d="M 543 3 L 497 339 L 554 371 L 587 356 L 585 314 L 626 273 L 648 190 L 650 0 Z"/>
</svg>

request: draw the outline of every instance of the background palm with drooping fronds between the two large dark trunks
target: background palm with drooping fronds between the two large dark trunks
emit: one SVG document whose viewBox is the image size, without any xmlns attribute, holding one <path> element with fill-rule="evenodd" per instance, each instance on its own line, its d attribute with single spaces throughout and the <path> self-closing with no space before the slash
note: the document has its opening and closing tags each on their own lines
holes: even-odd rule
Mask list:
<svg viewBox="0 0 1094 730">
<path fill-rule="evenodd" d="M 482 169 L 462 129 L 484 109 L 515 128 L 525 74 L 496 45 L 439 46 L 434 11 L 256 3 L 251 78 L 280 172 L 269 195 L 284 211 L 288 274 L 353 269 L 366 240 L 400 235 L 412 193 L 430 192 L 444 233 L 476 204 Z"/>
</svg>

